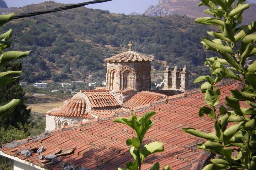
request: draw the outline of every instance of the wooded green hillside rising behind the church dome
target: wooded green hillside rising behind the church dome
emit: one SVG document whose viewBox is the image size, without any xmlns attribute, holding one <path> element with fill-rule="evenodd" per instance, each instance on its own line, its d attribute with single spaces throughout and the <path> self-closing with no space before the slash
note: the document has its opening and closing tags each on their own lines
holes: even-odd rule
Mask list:
<svg viewBox="0 0 256 170">
<path fill-rule="evenodd" d="M 53 1 L 28 5 L 15 13 L 27 13 L 60 7 Z M 12 28 L 15 42 L 12 50 L 31 50 L 23 58 L 25 74 L 22 81 L 66 81 L 87 79 L 105 80 L 104 58 L 123 52 L 128 42 L 140 53 L 154 56 L 153 65 L 164 69 L 158 60 L 172 67 L 185 64 L 196 74 L 207 70 L 205 57 L 211 55 L 202 49 L 200 36 L 205 26 L 195 24 L 186 16 L 148 17 L 111 14 L 109 11 L 80 7 L 6 24 Z"/>
</svg>

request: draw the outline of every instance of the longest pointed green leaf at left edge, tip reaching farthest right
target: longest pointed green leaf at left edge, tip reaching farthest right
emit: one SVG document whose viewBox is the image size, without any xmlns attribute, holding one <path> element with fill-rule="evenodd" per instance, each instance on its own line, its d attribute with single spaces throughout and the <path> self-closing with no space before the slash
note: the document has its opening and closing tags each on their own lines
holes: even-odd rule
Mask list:
<svg viewBox="0 0 256 170">
<path fill-rule="evenodd" d="M 12 60 L 26 57 L 29 53 L 30 51 L 7 51 L 0 56 L 0 66 Z"/>
</svg>

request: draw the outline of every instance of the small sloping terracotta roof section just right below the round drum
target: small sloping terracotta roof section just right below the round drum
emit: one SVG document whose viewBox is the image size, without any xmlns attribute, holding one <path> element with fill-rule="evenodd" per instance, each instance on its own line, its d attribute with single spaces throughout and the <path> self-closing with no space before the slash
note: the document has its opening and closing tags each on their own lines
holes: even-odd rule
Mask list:
<svg viewBox="0 0 256 170">
<path fill-rule="evenodd" d="M 164 97 L 165 95 L 156 92 L 142 91 L 123 103 L 122 107 L 131 109 L 132 107 L 142 106 L 150 102 L 158 101 Z"/>
</svg>

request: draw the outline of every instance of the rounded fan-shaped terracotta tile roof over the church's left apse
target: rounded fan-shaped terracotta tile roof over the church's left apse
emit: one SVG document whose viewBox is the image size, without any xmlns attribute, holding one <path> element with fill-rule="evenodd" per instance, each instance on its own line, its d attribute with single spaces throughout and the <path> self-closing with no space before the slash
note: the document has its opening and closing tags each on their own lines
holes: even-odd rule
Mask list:
<svg viewBox="0 0 256 170">
<path fill-rule="evenodd" d="M 86 102 L 83 97 L 76 97 L 69 99 L 66 104 L 59 110 L 48 112 L 49 115 L 63 116 L 63 117 L 77 117 L 93 119 L 88 117 L 86 112 Z"/>
</svg>

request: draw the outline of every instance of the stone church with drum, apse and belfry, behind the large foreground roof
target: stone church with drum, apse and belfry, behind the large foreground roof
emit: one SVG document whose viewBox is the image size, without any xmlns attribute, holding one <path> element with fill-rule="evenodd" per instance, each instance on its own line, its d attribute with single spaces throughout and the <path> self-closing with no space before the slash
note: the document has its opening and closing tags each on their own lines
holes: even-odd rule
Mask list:
<svg viewBox="0 0 256 170">
<path fill-rule="evenodd" d="M 106 87 L 81 90 L 64 101 L 62 107 L 48 111 L 46 130 L 100 119 L 186 90 L 185 81 L 189 75 L 186 66 L 183 70 L 176 66 L 172 70 L 167 67 L 165 71 L 165 90 L 151 91 L 150 70 L 153 58 L 133 51 L 131 41 L 128 45 L 128 51 L 105 59 Z M 172 86 L 169 85 L 170 81 L 173 82 Z"/>
</svg>

